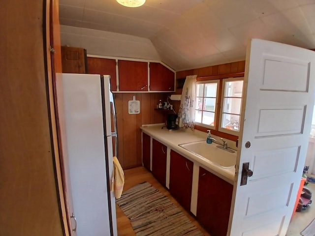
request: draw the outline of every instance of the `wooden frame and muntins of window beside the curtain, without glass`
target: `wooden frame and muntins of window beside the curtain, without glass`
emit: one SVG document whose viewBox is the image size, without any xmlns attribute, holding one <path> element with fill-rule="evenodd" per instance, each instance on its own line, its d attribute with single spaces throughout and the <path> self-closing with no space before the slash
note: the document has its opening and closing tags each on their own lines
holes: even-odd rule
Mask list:
<svg viewBox="0 0 315 236">
<path fill-rule="evenodd" d="M 201 109 L 201 110 L 199 110 L 199 109 L 196 109 L 197 108 L 197 98 L 198 97 L 200 97 L 200 96 L 197 96 L 197 86 L 196 86 L 196 104 L 195 104 L 195 111 L 201 111 L 201 123 L 200 122 L 196 122 L 195 121 L 195 117 L 196 117 L 196 114 L 194 115 L 194 123 L 196 124 L 196 125 L 199 125 L 199 126 L 202 126 L 202 127 L 206 127 L 206 128 L 211 128 L 211 129 L 215 129 L 216 128 L 216 125 L 217 125 L 217 118 L 218 118 L 218 109 L 219 109 L 219 90 L 220 90 L 220 80 L 205 80 L 205 81 L 197 81 L 196 82 L 196 85 L 199 85 L 199 84 L 203 84 L 203 85 L 205 85 L 205 84 L 217 84 L 217 93 L 216 93 L 216 97 L 215 97 L 215 99 L 216 99 L 216 102 L 215 102 L 215 104 L 216 104 L 216 106 L 215 106 L 215 109 L 214 109 L 214 122 L 215 122 L 215 125 L 208 125 L 208 124 L 205 124 L 205 123 L 202 123 L 202 114 L 203 114 L 203 112 L 204 111 L 206 111 L 206 110 L 203 110 L 203 109 Z M 205 92 L 205 86 L 203 87 L 203 93 L 202 93 L 202 98 L 203 98 L 203 101 L 202 101 L 202 104 L 204 103 L 204 99 L 205 98 L 214 98 L 214 97 L 205 97 L 204 96 L 204 92 Z M 202 108 L 203 108 L 203 106 L 202 106 Z M 210 112 L 210 111 L 206 111 L 206 112 Z"/>
</svg>

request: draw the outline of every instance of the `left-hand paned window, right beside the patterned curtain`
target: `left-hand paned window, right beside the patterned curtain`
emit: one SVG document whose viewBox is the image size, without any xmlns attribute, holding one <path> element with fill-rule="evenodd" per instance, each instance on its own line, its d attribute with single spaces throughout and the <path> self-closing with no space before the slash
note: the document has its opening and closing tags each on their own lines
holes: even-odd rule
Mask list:
<svg viewBox="0 0 315 236">
<path fill-rule="evenodd" d="M 197 82 L 196 89 L 195 123 L 214 128 L 219 80 Z"/>
</svg>

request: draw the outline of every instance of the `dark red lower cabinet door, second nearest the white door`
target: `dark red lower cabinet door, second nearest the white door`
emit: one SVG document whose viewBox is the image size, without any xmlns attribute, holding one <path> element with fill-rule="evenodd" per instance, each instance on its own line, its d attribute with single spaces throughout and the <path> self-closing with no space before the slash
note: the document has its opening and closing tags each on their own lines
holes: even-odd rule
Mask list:
<svg viewBox="0 0 315 236">
<path fill-rule="evenodd" d="M 171 150 L 169 191 L 190 211 L 193 162 Z"/>
</svg>

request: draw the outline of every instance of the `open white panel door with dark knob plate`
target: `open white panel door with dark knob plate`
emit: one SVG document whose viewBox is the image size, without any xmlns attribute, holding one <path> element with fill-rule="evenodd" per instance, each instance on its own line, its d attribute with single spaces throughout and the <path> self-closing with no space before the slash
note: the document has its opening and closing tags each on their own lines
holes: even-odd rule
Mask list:
<svg viewBox="0 0 315 236">
<path fill-rule="evenodd" d="M 314 64 L 313 51 L 251 40 L 228 235 L 286 234 L 308 147 Z M 252 177 L 241 185 L 247 162 Z"/>
</svg>

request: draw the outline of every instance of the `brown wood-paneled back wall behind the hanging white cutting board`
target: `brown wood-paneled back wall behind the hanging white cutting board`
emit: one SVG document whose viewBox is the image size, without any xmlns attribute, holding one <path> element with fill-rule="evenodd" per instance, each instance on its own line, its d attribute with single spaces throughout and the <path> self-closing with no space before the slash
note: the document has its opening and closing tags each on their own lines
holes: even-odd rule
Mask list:
<svg viewBox="0 0 315 236">
<path fill-rule="evenodd" d="M 155 110 L 158 100 L 166 101 L 169 93 L 114 93 L 118 159 L 123 169 L 142 165 L 141 129 L 143 124 L 164 123 L 166 112 Z M 128 114 L 128 101 L 135 96 L 140 101 L 140 113 Z"/>
</svg>

